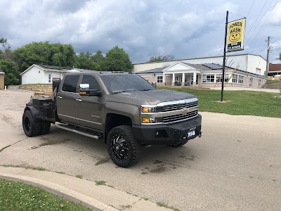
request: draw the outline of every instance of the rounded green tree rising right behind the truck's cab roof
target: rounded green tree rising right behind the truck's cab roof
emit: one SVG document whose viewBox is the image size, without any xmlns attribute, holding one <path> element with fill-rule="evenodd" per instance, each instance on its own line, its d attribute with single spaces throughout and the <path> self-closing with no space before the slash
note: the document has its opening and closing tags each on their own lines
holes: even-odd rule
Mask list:
<svg viewBox="0 0 281 211">
<path fill-rule="evenodd" d="M 128 54 L 123 49 L 119 49 L 118 46 L 113 47 L 105 54 L 105 60 L 101 65 L 101 70 L 104 71 L 130 72 L 132 69 L 133 65 Z"/>
</svg>

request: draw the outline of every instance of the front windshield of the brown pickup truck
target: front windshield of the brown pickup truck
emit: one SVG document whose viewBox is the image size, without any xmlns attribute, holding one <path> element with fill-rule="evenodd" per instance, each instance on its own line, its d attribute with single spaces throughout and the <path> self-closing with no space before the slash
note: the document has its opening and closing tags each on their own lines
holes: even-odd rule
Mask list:
<svg viewBox="0 0 281 211">
<path fill-rule="evenodd" d="M 148 91 L 155 89 L 141 76 L 129 75 L 102 75 L 100 76 L 110 94 L 124 91 Z"/>
</svg>

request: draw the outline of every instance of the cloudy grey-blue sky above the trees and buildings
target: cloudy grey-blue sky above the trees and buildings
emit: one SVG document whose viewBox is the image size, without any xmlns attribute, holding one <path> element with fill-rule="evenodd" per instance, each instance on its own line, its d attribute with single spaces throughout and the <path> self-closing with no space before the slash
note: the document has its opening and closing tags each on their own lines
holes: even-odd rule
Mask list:
<svg viewBox="0 0 281 211">
<path fill-rule="evenodd" d="M 122 47 L 133 63 L 223 55 L 229 20 L 247 18 L 245 50 L 270 62 L 281 53 L 280 0 L 0 0 L 0 37 L 12 49 L 32 41 L 72 44 L 77 53 Z"/>
</svg>

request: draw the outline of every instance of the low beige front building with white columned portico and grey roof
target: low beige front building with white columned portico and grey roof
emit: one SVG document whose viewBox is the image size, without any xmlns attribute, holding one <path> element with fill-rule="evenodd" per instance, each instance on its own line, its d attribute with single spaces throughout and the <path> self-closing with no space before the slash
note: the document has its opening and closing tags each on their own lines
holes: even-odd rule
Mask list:
<svg viewBox="0 0 281 211">
<path fill-rule="evenodd" d="M 215 63 L 194 65 L 176 62 L 166 68 L 155 68 L 136 72 L 148 82 L 157 82 L 166 86 L 197 86 L 214 88 L 220 87 L 222 82 L 223 66 Z M 226 87 L 261 88 L 266 82 L 262 75 L 226 67 Z"/>
</svg>

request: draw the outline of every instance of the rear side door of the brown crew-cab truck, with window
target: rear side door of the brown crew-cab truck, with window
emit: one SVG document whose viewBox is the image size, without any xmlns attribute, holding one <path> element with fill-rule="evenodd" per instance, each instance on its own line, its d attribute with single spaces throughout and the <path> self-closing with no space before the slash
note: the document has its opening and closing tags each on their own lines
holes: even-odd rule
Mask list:
<svg viewBox="0 0 281 211">
<path fill-rule="evenodd" d="M 75 102 L 79 98 L 78 81 L 79 75 L 67 75 L 57 96 L 58 117 L 74 124 L 79 123 L 75 114 Z"/>
</svg>

